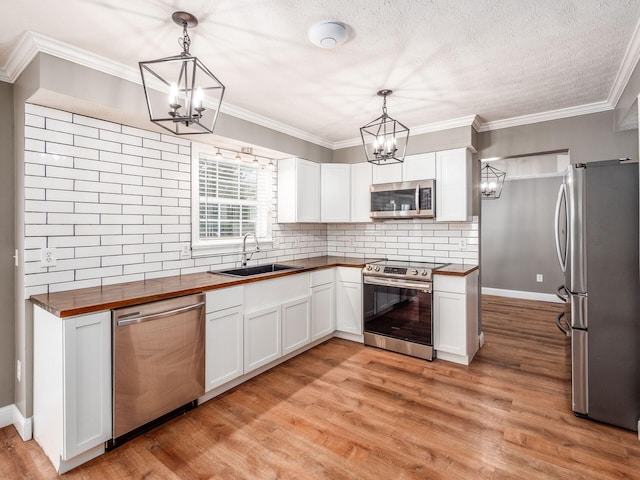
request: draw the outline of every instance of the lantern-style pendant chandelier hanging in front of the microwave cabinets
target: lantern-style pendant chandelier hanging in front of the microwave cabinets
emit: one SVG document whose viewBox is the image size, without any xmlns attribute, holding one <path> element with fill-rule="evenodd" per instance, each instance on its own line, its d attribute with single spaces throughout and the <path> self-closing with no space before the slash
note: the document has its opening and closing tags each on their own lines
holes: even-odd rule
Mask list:
<svg viewBox="0 0 640 480">
<path fill-rule="evenodd" d="M 387 114 L 387 96 L 393 90 L 380 90 L 382 97 L 382 115 L 360 128 L 362 145 L 367 162 L 376 165 L 388 165 L 404 162 L 409 141 L 409 129 Z"/>
</svg>

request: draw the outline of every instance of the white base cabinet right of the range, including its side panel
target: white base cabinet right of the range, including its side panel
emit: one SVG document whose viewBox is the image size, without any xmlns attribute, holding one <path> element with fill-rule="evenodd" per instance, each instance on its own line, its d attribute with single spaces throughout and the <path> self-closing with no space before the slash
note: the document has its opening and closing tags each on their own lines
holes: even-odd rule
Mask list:
<svg viewBox="0 0 640 480">
<path fill-rule="evenodd" d="M 478 271 L 434 275 L 433 345 L 438 358 L 468 365 L 478 350 Z"/>
</svg>

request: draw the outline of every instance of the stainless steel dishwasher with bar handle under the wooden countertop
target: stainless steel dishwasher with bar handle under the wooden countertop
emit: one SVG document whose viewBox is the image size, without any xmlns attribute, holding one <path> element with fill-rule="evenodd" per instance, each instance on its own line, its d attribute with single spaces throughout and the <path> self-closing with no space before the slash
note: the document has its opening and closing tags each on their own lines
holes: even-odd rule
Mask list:
<svg viewBox="0 0 640 480">
<path fill-rule="evenodd" d="M 115 448 L 197 406 L 204 394 L 205 295 L 113 310 Z"/>
</svg>

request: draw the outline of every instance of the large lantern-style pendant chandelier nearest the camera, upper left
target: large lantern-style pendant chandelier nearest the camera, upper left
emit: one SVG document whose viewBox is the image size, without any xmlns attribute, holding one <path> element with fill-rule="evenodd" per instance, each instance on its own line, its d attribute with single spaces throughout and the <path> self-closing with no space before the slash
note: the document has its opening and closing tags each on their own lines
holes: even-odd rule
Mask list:
<svg viewBox="0 0 640 480">
<path fill-rule="evenodd" d="M 195 27 L 198 19 L 187 12 L 174 12 L 171 18 L 182 27 L 178 39 L 182 53 L 139 62 L 149 117 L 175 135 L 213 133 L 224 85 L 189 53 L 187 29 Z"/>
</svg>

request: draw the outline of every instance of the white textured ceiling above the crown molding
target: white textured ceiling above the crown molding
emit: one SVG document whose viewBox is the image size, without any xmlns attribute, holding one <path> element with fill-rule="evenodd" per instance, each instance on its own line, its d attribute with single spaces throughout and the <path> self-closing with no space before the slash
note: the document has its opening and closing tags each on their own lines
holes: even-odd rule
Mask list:
<svg viewBox="0 0 640 480">
<path fill-rule="evenodd" d="M 200 21 L 191 53 L 226 102 L 330 143 L 389 113 L 415 128 L 610 101 L 640 0 L 2 1 L 0 67 L 34 31 L 125 66 L 177 54 L 171 13 Z M 334 19 L 349 40 L 323 50 L 308 28 Z"/>
</svg>

